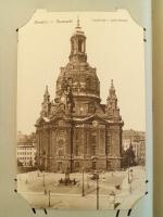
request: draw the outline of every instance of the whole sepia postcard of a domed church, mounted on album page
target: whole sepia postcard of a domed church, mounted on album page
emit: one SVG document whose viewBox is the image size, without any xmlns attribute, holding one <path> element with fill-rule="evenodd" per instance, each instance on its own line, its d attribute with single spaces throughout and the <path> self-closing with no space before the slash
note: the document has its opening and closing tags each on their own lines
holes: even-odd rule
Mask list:
<svg viewBox="0 0 163 217">
<path fill-rule="evenodd" d="M 146 192 L 143 27 L 126 10 L 36 10 L 17 31 L 17 192 L 128 209 Z"/>
</svg>

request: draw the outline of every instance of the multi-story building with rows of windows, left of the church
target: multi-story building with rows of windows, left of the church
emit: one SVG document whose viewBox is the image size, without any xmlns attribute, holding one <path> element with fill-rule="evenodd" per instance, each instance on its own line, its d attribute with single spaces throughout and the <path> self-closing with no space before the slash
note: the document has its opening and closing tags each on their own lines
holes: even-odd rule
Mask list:
<svg viewBox="0 0 163 217">
<path fill-rule="evenodd" d="M 17 164 L 23 167 L 34 167 L 36 157 L 35 135 L 17 135 Z"/>
</svg>

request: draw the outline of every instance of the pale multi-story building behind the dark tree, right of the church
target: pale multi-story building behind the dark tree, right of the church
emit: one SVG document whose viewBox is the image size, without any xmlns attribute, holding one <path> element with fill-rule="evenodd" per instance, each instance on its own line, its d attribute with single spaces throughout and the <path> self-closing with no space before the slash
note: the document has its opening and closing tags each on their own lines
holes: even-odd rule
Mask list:
<svg viewBox="0 0 163 217">
<path fill-rule="evenodd" d="M 136 162 L 145 165 L 146 162 L 146 135 L 145 131 L 124 130 L 123 131 L 123 149 L 126 151 L 129 145 L 135 152 Z"/>
</svg>

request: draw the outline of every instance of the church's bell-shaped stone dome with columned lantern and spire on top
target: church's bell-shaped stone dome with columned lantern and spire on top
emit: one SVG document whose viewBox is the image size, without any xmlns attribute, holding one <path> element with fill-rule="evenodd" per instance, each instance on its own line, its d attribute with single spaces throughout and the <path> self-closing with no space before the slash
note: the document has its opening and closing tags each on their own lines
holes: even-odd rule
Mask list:
<svg viewBox="0 0 163 217">
<path fill-rule="evenodd" d="M 100 101 L 100 81 L 96 68 L 87 63 L 86 36 L 79 26 L 79 20 L 75 34 L 71 37 L 70 62 L 61 67 L 57 80 L 57 97 L 61 94 L 65 80 L 72 87 L 74 98 L 85 97 Z"/>
</svg>

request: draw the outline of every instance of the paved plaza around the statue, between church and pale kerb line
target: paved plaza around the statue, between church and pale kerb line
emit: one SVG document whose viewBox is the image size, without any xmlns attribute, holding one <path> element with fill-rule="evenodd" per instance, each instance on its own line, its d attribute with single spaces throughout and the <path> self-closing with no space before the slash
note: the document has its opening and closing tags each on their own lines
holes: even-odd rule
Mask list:
<svg viewBox="0 0 163 217">
<path fill-rule="evenodd" d="M 64 178 L 64 174 L 52 174 L 52 173 L 37 173 L 32 171 L 27 174 L 20 174 L 18 191 L 23 192 L 43 192 L 45 188 L 54 193 L 77 193 L 82 194 L 83 189 L 83 177 L 82 174 L 71 174 L 71 179 L 76 180 L 75 186 L 61 186 L 59 180 Z M 105 191 L 115 189 L 115 186 L 122 186 L 122 182 L 126 176 L 126 171 L 120 173 L 105 173 L 100 175 L 99 186 L 100 193 L 105 194 Z M 86 194 L 96 193 L 96 180 L 88 178 L 89 175 L 84 175 L 84 186 Z M 108 192 L 109 193 L 109 192 Z"/>
</svg>

